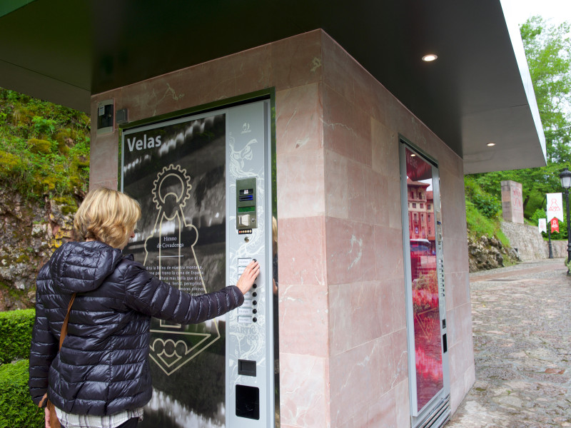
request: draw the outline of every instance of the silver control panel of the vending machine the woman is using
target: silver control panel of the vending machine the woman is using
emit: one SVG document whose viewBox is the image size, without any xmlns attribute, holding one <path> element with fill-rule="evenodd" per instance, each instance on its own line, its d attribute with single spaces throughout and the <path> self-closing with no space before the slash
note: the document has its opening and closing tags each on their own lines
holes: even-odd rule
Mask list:
<svg viewBox="0 0 571 428">
<path fill-rule="evenodd" d="M 275 426 L 272 181 L 268 101 L 231 108 L 226 151 L 226 275 L 260 273 L 226 318 L 226 427 Z"/>
</svg>

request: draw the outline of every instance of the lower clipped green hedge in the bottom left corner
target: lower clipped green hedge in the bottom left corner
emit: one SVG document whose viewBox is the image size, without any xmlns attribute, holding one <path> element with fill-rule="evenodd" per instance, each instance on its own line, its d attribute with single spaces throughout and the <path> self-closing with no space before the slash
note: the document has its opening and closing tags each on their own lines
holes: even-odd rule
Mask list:
<svg viewBox="0 0 571 428">
<path fill-rule="evenodd" d="M 28 392 L 29 361 L 0 366 L 0 428 L 44 427 L 44 410 Z"/>
</svg>

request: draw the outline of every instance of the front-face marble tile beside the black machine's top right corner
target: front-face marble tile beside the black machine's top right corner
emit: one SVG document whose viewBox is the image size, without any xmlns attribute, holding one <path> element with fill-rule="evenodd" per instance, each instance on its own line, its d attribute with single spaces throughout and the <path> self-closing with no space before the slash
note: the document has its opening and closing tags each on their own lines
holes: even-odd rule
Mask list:
<svg viewBox="0 0 571 428">
<path fill-rule="evenodd" d="M 323 148 L 323 115 L 319 84 L 313 83 L 276 93 L 276 151 L 295 153 Z"/>
</svg>

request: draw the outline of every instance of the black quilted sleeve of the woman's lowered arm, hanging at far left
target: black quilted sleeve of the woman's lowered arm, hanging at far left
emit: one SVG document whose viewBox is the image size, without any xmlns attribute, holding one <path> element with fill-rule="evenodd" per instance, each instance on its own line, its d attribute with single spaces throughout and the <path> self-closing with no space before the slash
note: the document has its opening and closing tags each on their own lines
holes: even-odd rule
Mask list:
<svg viewBox="0 0 571 428">
<path fill-rule="evenodd" d="M 38 289 L 40 287 L 38 286 Z M 58 342 L 49 329 L 41 293 L 36 291 L 36 320 L 32 330 L 30 347 L 30 378 L 28 387 L 31 399 L 39 404 L 48 389 L 48 372 L 57 355 Z"/>
</svg>

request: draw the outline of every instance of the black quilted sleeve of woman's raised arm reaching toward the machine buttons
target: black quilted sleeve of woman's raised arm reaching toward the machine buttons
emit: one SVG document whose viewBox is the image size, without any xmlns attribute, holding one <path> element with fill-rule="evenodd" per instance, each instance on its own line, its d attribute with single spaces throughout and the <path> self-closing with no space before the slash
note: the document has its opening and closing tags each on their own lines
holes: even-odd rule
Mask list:
<svg viewBox="0 0 571 428">
<path fill-rule="evenodd" d="M 178 324 L 197 324 L 242 305 L 244 296 L 234 285 L 193 296 L 158 280 L 138 264 L 127 267 L 126 305 L 146 315 Z"/>
</svg>

